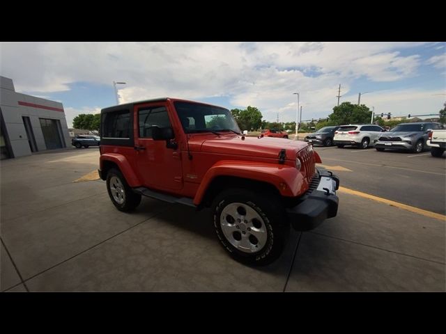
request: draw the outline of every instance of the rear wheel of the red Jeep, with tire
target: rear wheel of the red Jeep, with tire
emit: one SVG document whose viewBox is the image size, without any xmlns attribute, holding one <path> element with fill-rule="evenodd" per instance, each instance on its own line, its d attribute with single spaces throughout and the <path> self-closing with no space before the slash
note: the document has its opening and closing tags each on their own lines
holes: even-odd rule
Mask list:
<svg viewBox="0 0 446 334">
<path fill-rule="evenodd" d="M 110 169 L 106 183 L 109 197 L 119 211 L 132 211 L 141 202 L 141 195 L 132 191 L 120 170 Z"/>
</svg>

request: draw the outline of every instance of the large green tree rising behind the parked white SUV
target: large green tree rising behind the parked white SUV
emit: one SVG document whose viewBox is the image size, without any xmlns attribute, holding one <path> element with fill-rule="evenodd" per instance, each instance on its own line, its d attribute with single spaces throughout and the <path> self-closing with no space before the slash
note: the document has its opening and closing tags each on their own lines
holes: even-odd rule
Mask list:
<svg viewBox="0 0 446 334">
<path fill-rule="evenodd" d="M 351 104 L 351 102 L 342 102 L 341 105 L 334 106 L 333 113 L 328 117 L 334 125 L 363 124 L 370 122 L 371 111 L 364 104 L 357 106 L 357 104 Z"/>
</svg>

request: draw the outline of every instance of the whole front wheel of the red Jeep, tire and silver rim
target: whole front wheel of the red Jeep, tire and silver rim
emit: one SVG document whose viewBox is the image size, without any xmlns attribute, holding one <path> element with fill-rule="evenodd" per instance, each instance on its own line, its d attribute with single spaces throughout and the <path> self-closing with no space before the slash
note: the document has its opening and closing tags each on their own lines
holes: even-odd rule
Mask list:
<svg viewBox="0 0 446 334">
<path fill-rule="evenodd" d="M 282 254 L 289 224 L 277 198 L 247 189 L 228 189 L 215 198 L 212 210 L 220 244 L 235 260 L 265 265 Z"/>
</svg>

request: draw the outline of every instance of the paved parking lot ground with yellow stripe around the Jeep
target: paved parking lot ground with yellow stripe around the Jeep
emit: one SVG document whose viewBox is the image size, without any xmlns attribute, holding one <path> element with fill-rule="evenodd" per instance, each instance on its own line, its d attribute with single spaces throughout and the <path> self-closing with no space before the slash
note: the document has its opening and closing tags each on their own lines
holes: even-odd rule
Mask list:
<svg viewBox="0 0 446 334">
<path fill-rule="evenodd" d="M 316 151 L 340 177 L 338 215 L 267 267 L 226 255 L 208 209 L 118 212 L 85 176 L 98 148 L 1 161 L 1 291 L 444 292 L 445 157 Z"/>
</svg>

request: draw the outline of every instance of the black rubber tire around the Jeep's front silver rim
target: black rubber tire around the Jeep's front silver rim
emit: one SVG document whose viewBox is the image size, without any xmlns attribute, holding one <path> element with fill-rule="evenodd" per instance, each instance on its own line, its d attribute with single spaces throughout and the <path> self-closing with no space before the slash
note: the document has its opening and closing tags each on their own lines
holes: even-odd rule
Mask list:
<svg viewBox="0 0 446 334">
<path fill-rule="evenodd" d="M 256 218 L 252 218 L 251 221 L 246 221 L 246 224 L 243 222 L 237 222 L 237 217 L 242 217 L 242 219 L 244 217 L 243 215 L 237 216 L 237 213 L 240 212 L 240 207 L 238 207 L 237 213 L 235 214 L 236 217 L 231 218 L 231 220 L 233 221 L 233 225 L 231 226 L 233 226 L 234 231 L 231 232 L 232 234 L 230 234 L 231 236 L 233 236 L 233 241 L 230 241 L 225 236 L 224 231 L 222 230 L 222 222 L 220 220 L 220 216 L 223 210 L 225 208 L 229 209 L 228 206 L 233 203 L 240 203 L 241 205 L 243 205 L 241 208 L 245 209 L 245 214 L 247 213 L 246 210 L 249 210 L 250 212 L 252 212 L 252 214 L 260 217 L 261 219 L 259 220 Z M 247 189 L 228 189 L 222 191 L 222 193 L 217 195 L 217 197 L 213 201 L 212 212 L 215 232 L 217 233 L 217 237 L 220 240 L 220 244 L 229 253 L 229 255 L 233 257 L 234 260 L 237 260 L 238 262 L 242 262 L 244 264 L 261 266 L 271 263 L 282 254 L 282 251 L 286 244 L 286 240 L 289 236 L 290 226 L 289 223 L 286 221 L 285 209 L 282 206 L 282 203 L 278 200 L 278 198 L 271 196 L 270 193 L 268 193 L 267 195 Z M 228 217 L 231 216 L 228 215 L 226 216 L 226 218 L 224 218 L 226 224 L 226 219 L 229 220 Z M 256 222 L 254 223 L 255 220 Z M 239 229 L 235 230 L 237 225 L 239 226 Z M 249 230 L 249 226 L 254 228 L 256 227 L 256 225 L 263 227 L 263 230 L 266 231 L 266 234 L 254 234 L 252 232 L 249 232 L 252 231 Z M 243 233 L 245 234 L 245 236 L 243 236 L 240 232 L 245 232 Z M 243 251 L 240 250 L 240 247 L 237 248 L 236 246 L 231 244 L 231 242 L 237 242 L 235 241 L 237 233 L 240 240 L 242 238 L 245 238 L 245 241 L 249 242 L 250 247 L 254 249 L 261 243 L 259 239 L 256 239 L 256 236 L 260 236 L 266 239 L 259 250 Z M 254 238 L 253 241 L 252 238 Z"/>
</svg>

